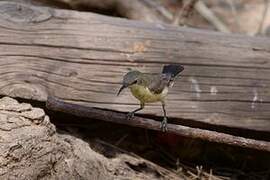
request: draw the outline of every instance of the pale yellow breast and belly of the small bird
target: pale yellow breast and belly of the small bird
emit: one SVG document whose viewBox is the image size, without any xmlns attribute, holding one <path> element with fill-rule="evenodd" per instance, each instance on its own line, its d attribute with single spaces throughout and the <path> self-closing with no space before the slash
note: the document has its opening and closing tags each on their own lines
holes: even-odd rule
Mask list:
<svg viewBox="0 0 270 180">
<path fill-rule="evenodd" d="M 157 101 L 163 101 L 166 95 L 168 94 L 168 88 L 164 88 L 164 90 L 160 94 L 151 93 L 151 91 L 140 85 L 132 85 L 129 87 L 131 93 L 134 97 L 136 97 L 142 103 L 151 103 Z"/>
</svg>

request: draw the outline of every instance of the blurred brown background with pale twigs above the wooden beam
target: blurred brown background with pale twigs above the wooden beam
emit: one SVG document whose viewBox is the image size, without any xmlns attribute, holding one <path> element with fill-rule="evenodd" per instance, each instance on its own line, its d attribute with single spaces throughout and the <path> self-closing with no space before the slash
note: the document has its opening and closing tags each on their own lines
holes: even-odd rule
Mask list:
<svg viewBox="0 0 270 180">
<path fill-rule="evenodd" d="M 270 35 L 269 0 L 13 0 L 148 22 Z"/>
</svg>

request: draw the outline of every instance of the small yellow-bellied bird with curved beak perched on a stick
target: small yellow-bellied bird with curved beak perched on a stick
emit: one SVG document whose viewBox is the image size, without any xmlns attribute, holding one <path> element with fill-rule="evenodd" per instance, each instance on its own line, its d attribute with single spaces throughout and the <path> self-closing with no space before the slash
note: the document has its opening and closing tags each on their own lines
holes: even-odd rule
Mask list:
<svg viewBox="0 0 270 180">
<path fill-rule="evenodd" d="M 180 64 L 164 65 L 159 74 L 142 73 L 138 70 L 131 70 L 123 76 L 122 86 L 117 96 L 125 89 L 129 88 L 132 95 L 140 101 L 140 107 L 127 114 L 127 119 L 132 119 L 134 114 L 144 109 L 145 104 L 161 102 L 163 110 L 163 120 L 160 128 L 167 131 L 167 113 L 165 108 L 165 98 L 169 87 L 172 87 L 175 79 L 179 76 L 184 67 Z"/>
</svg>

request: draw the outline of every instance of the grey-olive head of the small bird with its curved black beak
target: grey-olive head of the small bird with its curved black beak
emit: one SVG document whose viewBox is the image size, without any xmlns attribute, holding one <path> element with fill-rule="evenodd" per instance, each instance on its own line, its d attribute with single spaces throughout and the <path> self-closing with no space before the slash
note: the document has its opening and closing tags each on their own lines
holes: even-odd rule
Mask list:
<svg viewBox="0 0 270 180">
<path fill-rule="evenodd" d="M 121 91 L 133 84 L 138 83 L 138 79 L 141 75 L 141 72 L 139 71 L 129 71 L 127 74 L 124 75 L 123 81 L 122 81 L 122 86 L 119 89 L 117 96 L 121 93 Z"/>
</svg>

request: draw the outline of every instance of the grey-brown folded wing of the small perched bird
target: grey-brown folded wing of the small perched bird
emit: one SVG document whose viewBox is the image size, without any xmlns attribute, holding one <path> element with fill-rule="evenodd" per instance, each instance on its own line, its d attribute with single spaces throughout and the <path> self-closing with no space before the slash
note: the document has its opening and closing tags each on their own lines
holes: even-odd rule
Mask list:
<svg viewBox="0 0 270 180">
<path fill-rule="evenodd" d="M 170 76 L 166 74 L 156 75 L 151 78 L 147 87 L 152 93 L 160 94 L 169 85 L 169 82 Z"/>
</svg>

